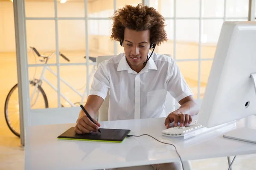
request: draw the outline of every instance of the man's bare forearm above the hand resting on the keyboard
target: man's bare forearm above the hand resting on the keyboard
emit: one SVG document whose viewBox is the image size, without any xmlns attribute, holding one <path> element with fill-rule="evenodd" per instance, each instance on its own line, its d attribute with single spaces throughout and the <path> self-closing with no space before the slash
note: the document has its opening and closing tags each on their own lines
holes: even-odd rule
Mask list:
<svg viewBox="0 0 256 170">
<path fill-rule="evenodd" d="M 180 108 L 177 109 L 177 111 L 188 114 L 190 116 L 194 116 L 199 113 L 199 107 L 198 105 L 193 101 L 188 101 L 180 106 Z"/>
</svg>

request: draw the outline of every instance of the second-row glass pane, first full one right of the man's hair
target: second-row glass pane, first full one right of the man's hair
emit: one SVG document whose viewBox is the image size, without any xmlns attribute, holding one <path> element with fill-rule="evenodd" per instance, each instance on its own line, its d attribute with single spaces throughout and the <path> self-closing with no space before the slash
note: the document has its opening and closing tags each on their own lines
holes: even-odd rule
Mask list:
<svg viewBox="0 0 256 170">
<path fill-rule="evenodd" d="M 177 20 L 177 59 L 198 59 L 199 21 Z"/>
</svg>

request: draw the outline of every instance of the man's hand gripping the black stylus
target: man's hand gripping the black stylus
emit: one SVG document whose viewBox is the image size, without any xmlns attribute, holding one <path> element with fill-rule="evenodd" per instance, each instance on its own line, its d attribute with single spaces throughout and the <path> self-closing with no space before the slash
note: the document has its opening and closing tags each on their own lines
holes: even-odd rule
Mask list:
<svg viewBox="0 0 256 170">
<path fill-rule="evenodd" d="M 86 115 L 81 116 L 76 121 L 75 132 L 77 134 L 91 133 L 92 131 L 96 132 L 99 129 L 100 124 L 96 120 L 94 120 L 94 119 L 93 119 L 93 121 L 97 125 L 95 125 L 92 121 L 90 121 L 90 119 Z"/>
</svg>

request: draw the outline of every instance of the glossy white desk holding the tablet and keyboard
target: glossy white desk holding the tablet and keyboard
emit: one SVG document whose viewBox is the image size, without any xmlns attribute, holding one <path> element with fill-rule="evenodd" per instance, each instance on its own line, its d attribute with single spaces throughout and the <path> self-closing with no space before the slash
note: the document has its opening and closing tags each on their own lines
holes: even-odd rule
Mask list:
<svg viewBox="0 0 256 170">
<path fill-rule="evenodd" d="M 222 137 L 221 131 L 180 141 L 160 134 L 165 118 L 101 122 L 102 128 L 131 129 L 175 144 L 183 160 L 256 153 L 256 144 Z M 256 122 L 256 116 L 250 121 Z M 237 127 L 244 127 L 244 120 Z M 25 170 L 98 170 L 180 161 L 175 148 L 149 136 L 129 137 L 123 143 L 61 140 L 57 136 L 75 124 L 30 126 L 25 137 Z M 256 125 L 251 126 L 256 129 Z"/>
</svg>

